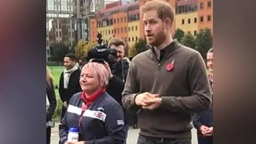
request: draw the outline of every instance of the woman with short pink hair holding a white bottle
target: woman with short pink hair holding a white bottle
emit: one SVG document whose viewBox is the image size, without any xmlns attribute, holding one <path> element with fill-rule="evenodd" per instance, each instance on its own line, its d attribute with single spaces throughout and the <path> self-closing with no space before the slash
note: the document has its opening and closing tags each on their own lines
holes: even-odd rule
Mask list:
<svg viewBox="0 0 256 144">
<path fill-rule="evenodd" d="M 59 126 L 61 144 L 121 144 L 123 108 L 106 92 L 110 70 L 105 65 L 89 62 L 82 68 L 82 91 L 69 101 L 68 110 Z M 79 127 L 78 142 L 67 141 L 68 130 Z"/>
</svg>

